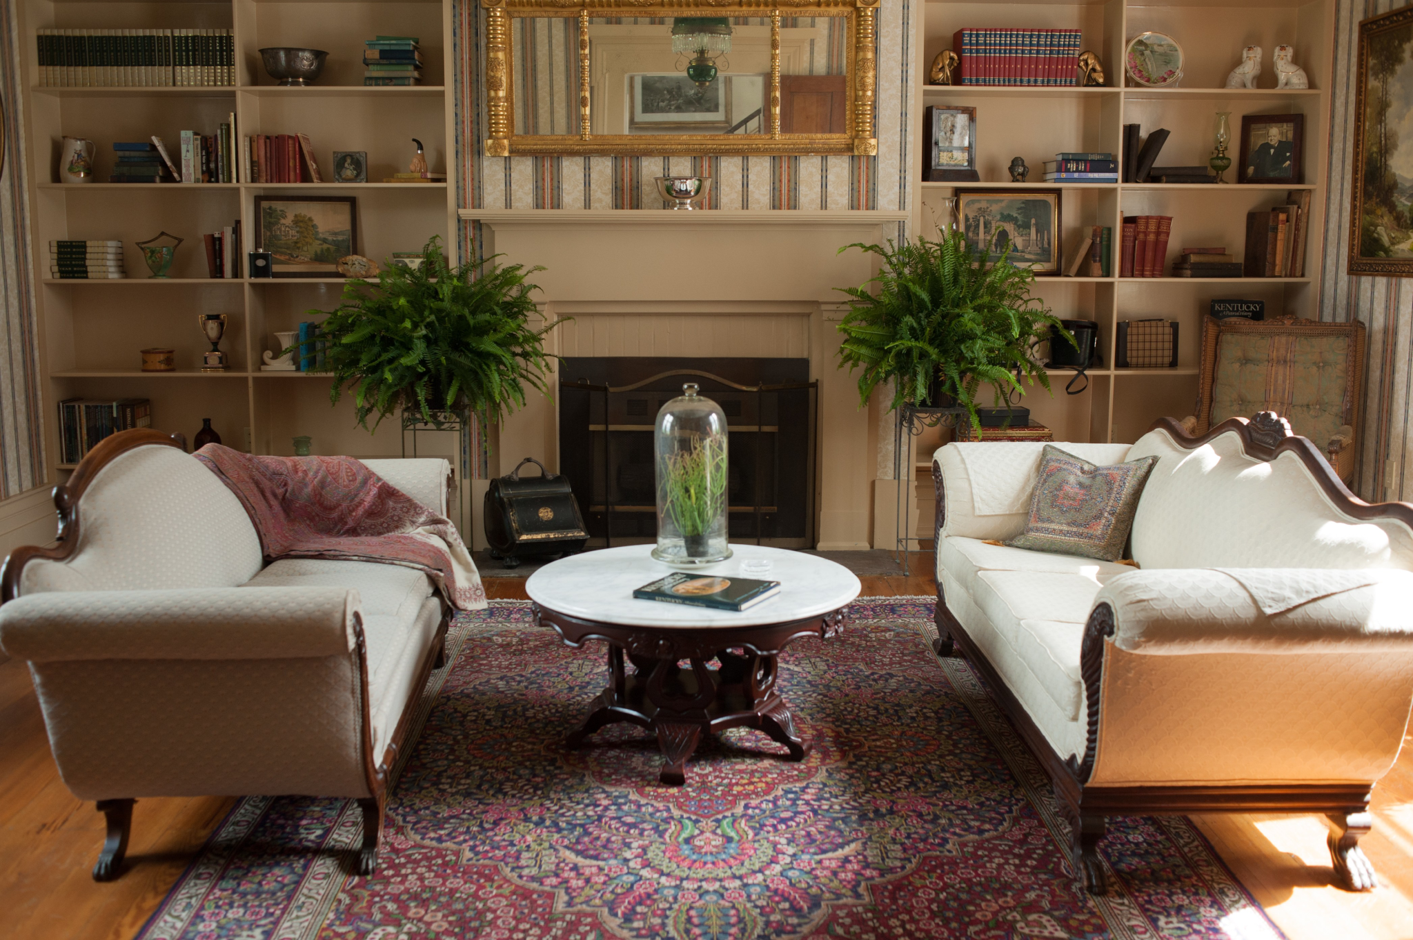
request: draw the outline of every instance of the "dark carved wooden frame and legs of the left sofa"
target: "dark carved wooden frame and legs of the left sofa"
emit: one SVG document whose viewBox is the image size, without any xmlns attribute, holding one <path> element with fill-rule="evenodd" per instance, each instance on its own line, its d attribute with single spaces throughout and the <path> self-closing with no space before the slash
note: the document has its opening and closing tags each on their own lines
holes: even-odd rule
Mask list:
<svg viewBox="0 0 1413 940">
<path fill-rule="evenodd" d="M 48 546 L 25 545 L 16 549 L 0 566 L 0 604 L 7 604 L 20 594 L 20 576 L 24 566 L 32 559 L 45 558 L 54 560 L 68 559 L 79 543 L 79 500 L 85 490 L 93 483 L 99 471 L 119 456 L 147 445 L 167 445 L 179 450 L 187 449 L 187 439 L 181 433 L 164 433 L 151 429 L 124 430 L 103 439 L 79 462 L 69 476 L 68 483 L 54 488 L 54 507 L 58 512 L 58 539 Z M 389 738 L 389 745 L 383 752 L 383 759 L 376 761 L 373 755 L 372 714 L 369 701 L 367 675 L 367 645 L 363 637 L 362 617 L 355 613 L 356 646 L 353 655 L 357 659 L 359 682 L 362 687 L 362 754 L 363 775 L 367 782 L 369 796 L 357 797 L 359 809 L 363 813 L 363 838 L 352 858 L 350 869 L 359 875 L 372 875 L 377 867 L 377 847 L 383 828 L 383 813 L 387 806 L 389 778 L 397 754 L 407 738 L 411 717 L 415 709 L 411 706 L 415 697 L 427 686 L 427 679 L 434 669 L 441 669 L 447 663 L 447 629 L 451 624 L 451 607 L 442 600 L 442 618 L 437 627 L 437 635 L 424 653 L 418 665 L 408 699 L 403 703 L 401 717 Z M 93 865 L 95 881 L 112 881 L 122 871 L 123 857 L 127 852 L 127 840 L 133 823 L 133 803 L 137 799 L 109 799 L 97 800 L 97 810 L 107 821 L 107 836 L 99 852 L 97 864 Z"/>
</svg>

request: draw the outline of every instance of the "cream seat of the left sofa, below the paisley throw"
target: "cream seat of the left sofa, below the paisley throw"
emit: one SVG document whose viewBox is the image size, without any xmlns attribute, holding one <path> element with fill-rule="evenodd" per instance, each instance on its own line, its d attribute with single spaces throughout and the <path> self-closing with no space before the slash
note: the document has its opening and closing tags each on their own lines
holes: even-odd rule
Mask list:
<svg viewBox="0 0 1413 940">
<path fill-rule="evenodd" d="M 401 661 L 411 655 L 415 662 L 421 662 L 427 638 L 414 629 L 414 621 L 424 601 L 432 594 L 432 582 L 417 569 L 377 562 L 287 558 L 243 584 L 243 587 L 280 586 L 357 589 L 363 598 L 360 610 L 363 639 L 367 645 L 367 694 L 373 711 L 383 704 L 389 687 L 396 685 L 394 677 Z M 414 639 L 417 642 L 413 642 Z M 401 665 L 406 668 L 406 663 Z"/>
</svg>

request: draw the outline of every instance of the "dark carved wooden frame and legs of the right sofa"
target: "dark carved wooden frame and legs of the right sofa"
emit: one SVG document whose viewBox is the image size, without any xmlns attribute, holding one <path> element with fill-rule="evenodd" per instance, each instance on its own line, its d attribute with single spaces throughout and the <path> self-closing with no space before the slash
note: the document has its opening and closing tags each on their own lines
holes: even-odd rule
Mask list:
<svg viewBox="0 0 1413 940">
<path fill-rule="evenodd" d="M 1294 453 L 1314 474 L 1330 500 L 1356 519 L 1399 519 L 1413 526 L 1413 505 L 1407 502 L 1369 504 L 1354 495 L 1335 476 L 1320 450 L 1306 438 L 1290 432 L 1290 425 L 1273 412 L 1260 412 L 1251 421 L 1231 418 L 1201 436 L 1188 436 L 1183 425 L 1171 418 L 1160 418 L 1150 430 L 1163 429 L 1181 447 L 1193 450 L 1218 435 L 1235 430 L 1241 435 L 1245 453 L 1258 460 L 1275 460 L 1277 454 Z M 937 491 L 937 522 L 934 539 L 945 522 L 941 467 L 933 462 L 933 484 Z M 934 542 L 935 545 L 937 542 Z M 1081 646 L 1080 675 L 1088 706 L 1088 738 L 1082 761 L 1063 759 L 1046 740 L 1039 725 L 1002 680 L 1000 673 L 985 653 L 968 638 L 966 631 L 947 610 L 942 586 L 937 586 L 934 614 L 938 638 L 934 652 L 954 655 L 954 645 L 976 668 L 1010 718 L 1016 731 L 1030 747 L 1040 765 L 1050 775 L 1054 793 L 1071 827 L 1071 861 L 1075 874 L 1089 893 L 1106 892 L 1106 876 L 1099 861 L 1098 845 L 1105 836 L 1109 816 L 1163 816 L 1186 813 L 1323 813 L 1334 823 L 1328 844 L 1335 874 L 1355 891 L 1375 886 L 1373 867 L 1358 847 L 1368 834 L 1373 817 L 1369 813 L 1372 788 L 1340 785 L 1252 785 L 1252 786 L 1088 786 L 1094 771 L 1099 735 L 1099 696 L 1104 673 L 1105 639 L 1113 635 L 1113 610 L 1098 604 L 1085 625 Z"/>
</svg>

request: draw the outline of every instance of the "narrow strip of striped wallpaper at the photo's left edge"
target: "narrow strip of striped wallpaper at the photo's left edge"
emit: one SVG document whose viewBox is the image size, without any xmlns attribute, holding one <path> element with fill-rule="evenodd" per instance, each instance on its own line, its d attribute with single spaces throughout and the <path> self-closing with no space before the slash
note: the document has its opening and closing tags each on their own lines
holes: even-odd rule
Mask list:
<svg viewBox="0 0 1413 940">
<path fill-rule="evenodd" d="M 0 4 L 0 102 L 4 169 L 0 172 L 0 500 L 42 486 L 44 421 L 40 343 L 30 265 L 30 200 L 24 127 L 24 75 L 16 6 Z"/>
</svg>

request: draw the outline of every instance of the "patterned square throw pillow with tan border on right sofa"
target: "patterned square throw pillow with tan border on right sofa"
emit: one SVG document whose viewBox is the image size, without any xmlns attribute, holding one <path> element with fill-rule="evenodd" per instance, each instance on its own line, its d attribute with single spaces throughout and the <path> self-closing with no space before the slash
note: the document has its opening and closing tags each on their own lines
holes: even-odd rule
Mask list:
<svg viewBox="0 0 1413 940">
<path fill-rule="evenodd" d="M 1142 457 L 1096 467 L 1047 445 L 1030 494 L 1026 531 L 1006 545 L 1118 562 L 1133 528 L 1139 494 L 1156 463 L 1157 457 Z"/>
</svg>

